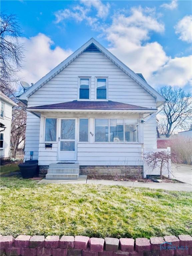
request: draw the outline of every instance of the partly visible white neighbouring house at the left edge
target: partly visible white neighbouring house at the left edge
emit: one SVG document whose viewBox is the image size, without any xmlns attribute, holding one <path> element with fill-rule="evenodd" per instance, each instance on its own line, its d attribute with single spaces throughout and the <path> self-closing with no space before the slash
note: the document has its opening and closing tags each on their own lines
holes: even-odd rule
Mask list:
<svg viewBox="0 0 192 256">
<path fill-rule="evenodd" d="M 0 127 L 0 157 L 1 160 L 9 158 L 12 107 L 17 106 L 15 102 L 0 92 L 1 98 L 1 127 Z"/>
</svg>

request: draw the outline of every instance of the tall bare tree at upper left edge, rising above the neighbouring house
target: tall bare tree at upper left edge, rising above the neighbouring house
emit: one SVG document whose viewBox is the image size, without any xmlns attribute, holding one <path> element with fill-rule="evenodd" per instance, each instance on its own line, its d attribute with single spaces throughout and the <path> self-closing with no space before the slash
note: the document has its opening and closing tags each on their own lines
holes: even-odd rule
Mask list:
<svg viewBox="0 0 192 256">
<path fill-rule="evenodd" d="M 1 13 L 0 18 L 0 85 L 1 91 L 8 97 L 15 97 L 16 73 L 21 69 L 24 58 L 23 45 L 19 42 L 21 29 L 16 16 Z"/>
</svg>

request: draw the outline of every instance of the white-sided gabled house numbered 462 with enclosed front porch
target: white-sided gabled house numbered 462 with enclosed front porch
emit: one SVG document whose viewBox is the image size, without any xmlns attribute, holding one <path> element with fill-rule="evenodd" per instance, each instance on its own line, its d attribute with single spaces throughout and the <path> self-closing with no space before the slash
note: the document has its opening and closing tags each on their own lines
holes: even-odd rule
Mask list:
<svg viewBox="0 0 192 256">
<path fill-rule="evenodd" d="M 33 154 L 40 174 L 49 168 L 46 178 L 65 178 L 72 166 L 89 176 L 142 171 L 144 150 L 157 148 L 156 113 L 166 103 L 94 38 L 18 99 L 28 110 L 25 159 Z"/>
</svg>

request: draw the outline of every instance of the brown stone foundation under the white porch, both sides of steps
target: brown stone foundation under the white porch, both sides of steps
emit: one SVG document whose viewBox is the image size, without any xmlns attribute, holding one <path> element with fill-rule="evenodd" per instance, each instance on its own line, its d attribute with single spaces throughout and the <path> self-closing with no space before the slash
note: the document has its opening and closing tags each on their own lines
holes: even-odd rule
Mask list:
<svg viewBox="0 0 192 256">
<path fill-rule="evenodd" d="M 48 165 L 39 166 L 39 177 L 47 174 Z M 141 165 L 80 165 L 79 174 L 87 175 L 87 178 L 95 179 L 119 179 L 143 177 L 143 166 Z"/>
</svg>

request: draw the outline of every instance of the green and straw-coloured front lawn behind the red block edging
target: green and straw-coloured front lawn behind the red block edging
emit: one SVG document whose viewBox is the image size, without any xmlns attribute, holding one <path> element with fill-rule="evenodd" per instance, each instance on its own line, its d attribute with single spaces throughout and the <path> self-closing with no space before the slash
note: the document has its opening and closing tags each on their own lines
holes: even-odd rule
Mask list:
<svg viewBox="0 0 192 256">
<path fill-rule="evenodd" d="M 190 234 L 192 193 L 1 178 L 1 234 L 153 237 Z"/>
</svg>

